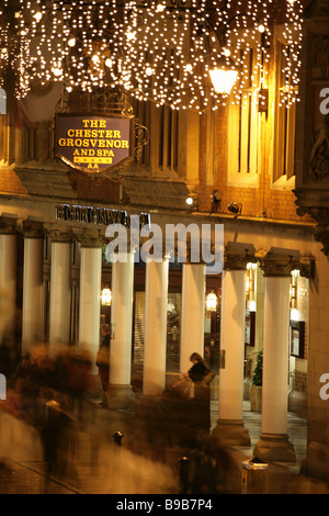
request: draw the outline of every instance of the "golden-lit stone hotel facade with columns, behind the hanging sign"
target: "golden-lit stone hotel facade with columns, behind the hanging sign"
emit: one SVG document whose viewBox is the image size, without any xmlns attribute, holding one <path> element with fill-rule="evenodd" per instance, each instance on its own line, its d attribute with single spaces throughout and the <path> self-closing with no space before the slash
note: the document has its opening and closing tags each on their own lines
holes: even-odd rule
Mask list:
<svg viewBox="0 0 329 516">
<path fill-rule="evenodd" d="M 174 372 L 186 370 L 191 352 L 204 355 L 206 341 L 211 352 L 217 339 L 219 414 L 213 435 L 220 442 L 250 442 L 242 401 L 257 352 L 263 350 L 262 434 L 256 452 L 265 460 L 295 460 L 286 428 L 287 411 L 293 410 L 307 416 L 306 473 L 329 481 L 328 461 L 321 459 L 329 447 L 328 402 L 320 396 L 320 378 L 329 366 L 327 154 L 326 138 L 316 139 L 321 119 L 317 106 L 327 109 L 329 88 L 327 3 L 309 2 L 305 10 L 296 106 L 286 110 L 277 102 L 286 42 L 275 25 L 265 110 L 251 103 L 247 111 L 226 105 L 200 115 L 132 102 L 143 136 L 138 133 L 134 143 L 134 159 L 114 172 L 82 172 L 54 156 L 60 97 L 56 87 L 30 97 L 34 119 L 26 125 L 14 116 L 15 100 L 7 85 L 8 114 L 1 115 L 0 133 L 0 292 L 5 292 L 10 314 L 7 335 L 15 334 L 21 354 L 46 341 L 50 348 L 58 343 L 86 346 L 94 355 L 101 316 L 107 317 L 114 328 L 113 406 L 134 403 L 137 335 L 143 336 L 143 392 L 163 392 L 172 372 L 166 370 L 166 357 L 172 358 L 169 314 L 179 319 Z M 252 76 L 251 52 L 250 66 Z M 259 86 L 253 80 L 247 92 L 251 99 Z M 67 110 L 77 111 L 80 100 L 71 97 Z M 83 100 L 88 112 L 90 98 Z M 44 105 L 50 102 L 52 115 L 43 120 Z M 319 152 L 322 169 L 318 162 L 309 165 Z M 185 203 L 189 195 L 192 205 Z M 163 234 L 168 224 L 207 224 L 213 242 L 220 225 L 223 272 L 206 276 L 204 263 L 191 261 L 173 270 L 166 260 L 147 262 L 138 272 L 129 249 L 126 260 L 110 268 L 103 259 L 106 225 L 60 218 L 60 205 L 128 216 L 147 213 Z M 105 284 L 113 296 L 110 318 L 99 301 Z M 144 294 L 141 333 L 136 324 L 137 284 Z M 205 310 L 205 294 L 212 291 L 220 327 Z M 180 296 L 170 310 L 168 292 Z"/>
</svg>

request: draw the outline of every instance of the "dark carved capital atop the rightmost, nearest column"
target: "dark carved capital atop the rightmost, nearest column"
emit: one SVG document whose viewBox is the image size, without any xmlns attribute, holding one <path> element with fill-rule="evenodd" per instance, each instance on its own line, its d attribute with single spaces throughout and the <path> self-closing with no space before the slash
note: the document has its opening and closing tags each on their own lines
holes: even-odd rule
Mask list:
<svg viewBox="0 0 329 516">
<path fill-rule="evenodd" d="M 292 271 L 300 269 L 299 251 L 286 249 L 259 250 L 256 254 L 264 277 L 290 277 Z"/>
</svg>

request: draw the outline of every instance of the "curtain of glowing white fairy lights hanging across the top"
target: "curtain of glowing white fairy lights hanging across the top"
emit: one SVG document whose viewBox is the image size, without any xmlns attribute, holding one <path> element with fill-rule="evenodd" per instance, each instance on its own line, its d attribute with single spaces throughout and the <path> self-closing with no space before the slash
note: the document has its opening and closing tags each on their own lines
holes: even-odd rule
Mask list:
<svg viewBox="0 0 329 516">
<path fill-rule="evenodd" d="M 36 82 L 60 81 L 68 91 L 120 86 L 172 109 L 238 103 L 250 75 L 259 88 L 268 82 L 280 2 L 286 57 L 281 100 L 290 106 L 297 99 L 299 0 L 20 0 L 15 12 L 9 2 L 0 11 L 0 70 L 13 67 L 18 97 Z M 218 93 L 211 71 L 228 64 L 238 79 L 230 93 Z"/>
</svg>

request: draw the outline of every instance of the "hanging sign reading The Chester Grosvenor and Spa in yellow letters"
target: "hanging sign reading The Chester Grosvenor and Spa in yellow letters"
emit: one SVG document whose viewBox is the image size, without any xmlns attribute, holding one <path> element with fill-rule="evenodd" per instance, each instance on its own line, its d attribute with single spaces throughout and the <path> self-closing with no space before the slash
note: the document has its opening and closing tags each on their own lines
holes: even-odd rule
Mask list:
<svg viewBox="0 0 329 516">
<path fill-rule="evenodd" d="M 58 114 L 55 155 L 84 172 L 103 172 L 131 157 L 129 117 Z"/>
</svg>

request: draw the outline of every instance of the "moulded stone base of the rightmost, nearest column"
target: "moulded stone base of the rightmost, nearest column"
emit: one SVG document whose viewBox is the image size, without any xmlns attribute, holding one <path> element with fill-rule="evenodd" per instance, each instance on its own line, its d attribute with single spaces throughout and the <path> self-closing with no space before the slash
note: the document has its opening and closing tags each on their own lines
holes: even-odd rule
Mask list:
<svg viewBox="0 0 329 516">
<path fill-rule="evenodd" d="M 253 453 L 265 462 L 296 462 L 294 446 L 286 434 L 261 434 Z"/>
</svg>

